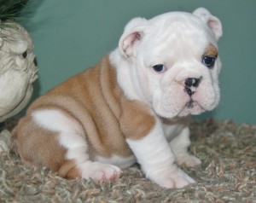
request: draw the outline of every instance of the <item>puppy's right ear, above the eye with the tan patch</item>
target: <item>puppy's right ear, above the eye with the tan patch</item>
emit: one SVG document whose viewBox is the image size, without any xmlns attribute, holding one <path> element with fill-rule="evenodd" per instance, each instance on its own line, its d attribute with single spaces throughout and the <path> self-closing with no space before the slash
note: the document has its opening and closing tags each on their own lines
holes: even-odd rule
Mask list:
<svg viewBox="0 0 256 203">
<path fill-rule="evenodd" d="M 200 17 L 207 26 L 212 30 L 215 38 L 218 40 L 222 36 L 222 25 L 217 17 L 213 16 L 207 9 L 198 8 L 193 12 L 196 16 Z"/>
</svg>

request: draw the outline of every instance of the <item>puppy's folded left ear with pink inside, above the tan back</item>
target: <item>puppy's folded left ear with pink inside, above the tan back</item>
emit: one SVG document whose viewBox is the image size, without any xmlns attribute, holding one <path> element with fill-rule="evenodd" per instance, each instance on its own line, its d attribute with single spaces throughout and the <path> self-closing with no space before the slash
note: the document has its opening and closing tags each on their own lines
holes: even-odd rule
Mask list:
<svg viewBox="0 0 256 203">
<path fill-rule="evenodd" d="M 119 39 L 119 51 L 122 55 L 127 58 L 134 55 L 137 44 L 139 44 L 143 38 L 147 23 L 148 20 L 144 18 L 135 18 L 125 26 L 125 31 Z"/>
</svg>

